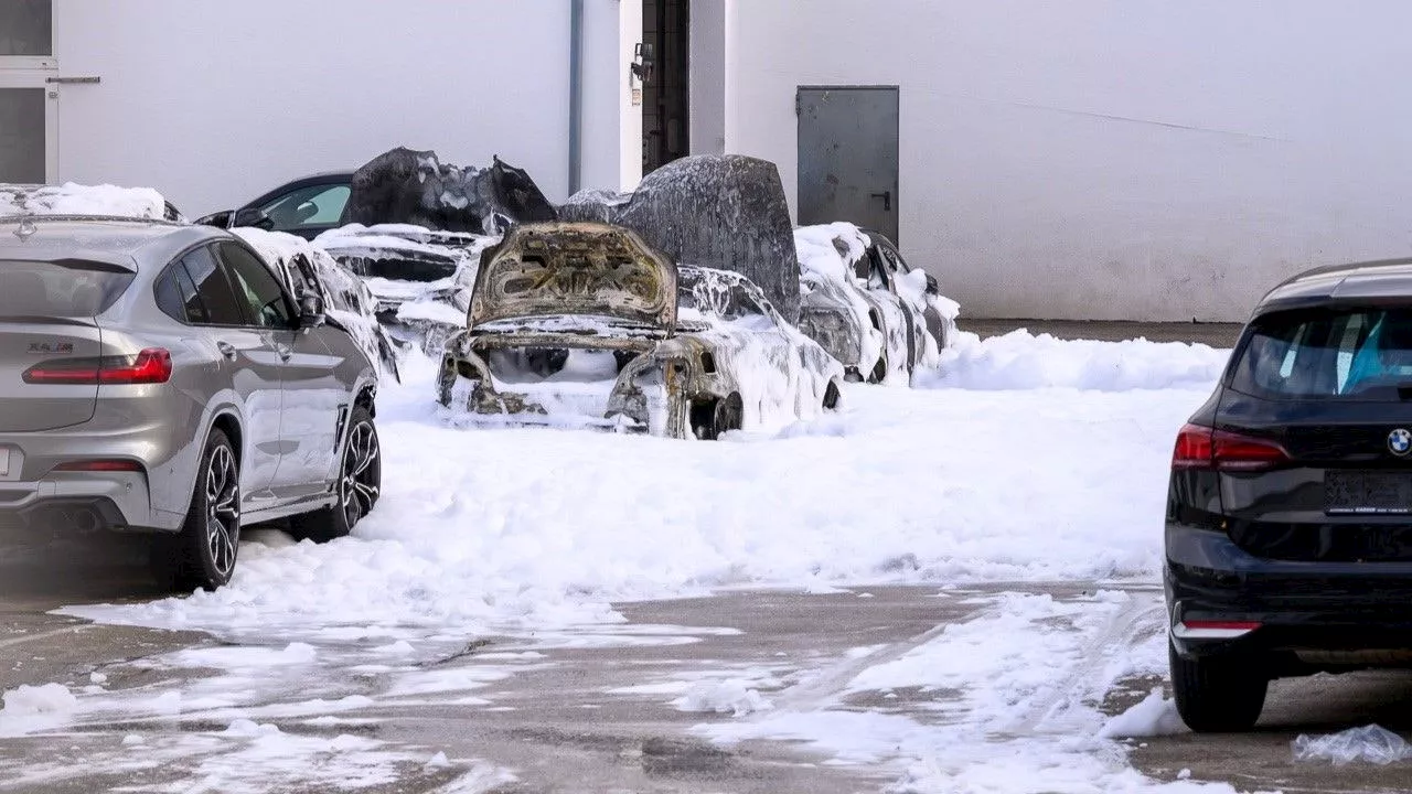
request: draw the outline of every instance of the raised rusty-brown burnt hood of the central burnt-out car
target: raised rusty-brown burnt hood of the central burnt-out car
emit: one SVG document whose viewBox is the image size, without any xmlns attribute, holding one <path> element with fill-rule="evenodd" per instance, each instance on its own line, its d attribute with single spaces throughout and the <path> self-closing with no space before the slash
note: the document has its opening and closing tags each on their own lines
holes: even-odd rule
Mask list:
<svg viewBox="0 0 1412 794">
<path fill-rule="evenodd" d="M 518 226 L 481 254 L 470 328 L 532 318 L 602 318 L 669 336 L 676 329 L 676 264 L 616 226 Z"/>
</svg>

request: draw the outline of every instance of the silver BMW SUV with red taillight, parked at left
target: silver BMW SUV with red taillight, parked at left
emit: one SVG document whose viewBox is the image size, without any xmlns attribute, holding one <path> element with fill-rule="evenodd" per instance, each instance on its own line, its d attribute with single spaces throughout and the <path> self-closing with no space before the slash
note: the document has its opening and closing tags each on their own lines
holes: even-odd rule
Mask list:
<svg viewBox="0 0 1412 794">
<path fill-rule="evenodd" d="M 230 581 L 241 524 L 345 535 L 381 485 L 376 373 L 225 230 L 0 220 L 0 530 L 151 533 L 182 591 Z"/>
</svg>

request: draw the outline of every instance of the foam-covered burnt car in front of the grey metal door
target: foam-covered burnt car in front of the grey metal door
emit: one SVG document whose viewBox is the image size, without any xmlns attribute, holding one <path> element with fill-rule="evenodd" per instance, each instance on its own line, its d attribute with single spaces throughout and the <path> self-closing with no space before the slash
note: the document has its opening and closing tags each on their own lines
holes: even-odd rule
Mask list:
<svg viewBox="0 0 1412 794">
<path fill-rule="evenodd" d="M 850 380 L 909 383 L 956 336 L 957 305 L 897 246 L 851 223 L 795 230 L 799 329 L 843 363 Z"/>
</svg>

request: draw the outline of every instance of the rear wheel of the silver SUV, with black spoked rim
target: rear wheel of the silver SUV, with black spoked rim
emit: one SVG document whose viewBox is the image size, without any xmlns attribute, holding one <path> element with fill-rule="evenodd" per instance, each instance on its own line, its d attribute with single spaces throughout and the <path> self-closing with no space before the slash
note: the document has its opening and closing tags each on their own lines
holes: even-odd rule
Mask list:
<svg viewBox="0 0 1412 794">
<path fill-rule="evenodd" d="M 152 578 L 168 591 L 215 591 L 230 582 L 240 554 L 240 463 L 226 434 L 213 429 L 181 531 L 154 538 Z"/>
</svg>

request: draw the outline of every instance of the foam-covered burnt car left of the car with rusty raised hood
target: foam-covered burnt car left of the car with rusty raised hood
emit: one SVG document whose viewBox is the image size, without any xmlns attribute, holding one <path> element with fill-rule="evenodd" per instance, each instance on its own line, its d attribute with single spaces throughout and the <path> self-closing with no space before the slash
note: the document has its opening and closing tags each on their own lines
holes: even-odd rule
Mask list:
<svg viewBox="0 0 1412 794">
<path fill-rule="evenodd" d="M 496 242 L 408 223 L 350 223 L 313 244 L 363 278 L 378 322 L 398 340 L 439 355 L 446 338 L 466 326 L 480 251 Z"/>
</svg>

